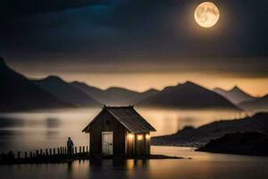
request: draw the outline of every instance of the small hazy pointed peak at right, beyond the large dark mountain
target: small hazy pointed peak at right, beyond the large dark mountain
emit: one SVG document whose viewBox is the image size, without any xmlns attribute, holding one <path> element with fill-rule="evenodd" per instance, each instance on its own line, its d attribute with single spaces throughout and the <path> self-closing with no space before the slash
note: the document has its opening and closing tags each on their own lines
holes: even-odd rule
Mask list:
<svg viewBox="0 0 268 179">
<path fill-rule="evenodd" d="M 224 98 L 228 98 L 230 102 L 234 104 L 239 104 L 244 101 L 255 99 L 251 95 L 247 94 L 245 91 L 240 90 L 239 87 L 235 86 L 231 90 L 222 90 L 220 88 L 214 89 L 214 92 L 222 95 Z"/>
</svg>

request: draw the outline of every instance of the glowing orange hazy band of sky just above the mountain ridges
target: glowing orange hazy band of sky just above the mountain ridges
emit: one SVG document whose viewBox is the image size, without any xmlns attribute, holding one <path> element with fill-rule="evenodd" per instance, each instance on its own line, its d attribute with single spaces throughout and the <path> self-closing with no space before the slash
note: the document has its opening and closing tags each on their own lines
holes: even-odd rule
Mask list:
<svg viewBox="0 0 268 179">
<path fill-rule="evenodd" d="M 6 62 L 15 71 L 21 72 L 28 78 L 42 79 L 49 75 L 57 75 L 63 78 L 64 81 L 81 81 L 87 83 L 88 86 L 94 86 L 102 90 L 110 87 L 121 87 L 139 92 L 149 89 L 163 90 L 166 86 L 175 86 L 185 81 L 193 81 L 209 90 L 214 90 L 214 88 L 230 90 L 234 86 L 238 86 L 241 90 L 255 97 L 262 97 L 268 93 L 268 86 L 265 85 L 268 82 L 268 77 L 266 77 L 265 72 L 263 72 L 264 76 L 254 72 L 205 72 L 205 70 L 197 69 L 190 69 L 189 72 L 180 72 L 179 70 L 176 72 L 176 69 L 172 69 L 170 72 L 167 72 L 167 68 L 163 68 L 163 71 L 157 71 L 152 67 L 147 72 L 145 69 L 130 69 L 131 67 L 129 72 L 113 72 L 113 65 L 107 67 L 107 65 L 100 64 L 96 64 L 96 68 L 100 69 L 100 72 L 90 72 L 90 70 L 87 72 L 77 68 L 75 65 L 66 65 L 64 68 L 61 65 L 21 65 L 12 61 L 9 63 L 9 60 L 6 60 Z M 126 69 L 124 67 L 127 65 L 124 65 L 121 64 L 121 66 L 117 67 Z"/>
</svg>

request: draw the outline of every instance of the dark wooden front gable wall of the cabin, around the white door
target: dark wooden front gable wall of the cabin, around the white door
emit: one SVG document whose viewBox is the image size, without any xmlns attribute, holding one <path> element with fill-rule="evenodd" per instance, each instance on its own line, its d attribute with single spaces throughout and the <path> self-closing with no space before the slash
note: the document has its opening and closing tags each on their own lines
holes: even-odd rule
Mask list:
<svg viewBox="0 0 268 179">
<path fill-rule="evenodd" d="M 127 130 L 105 110 L 98 115 L 89 128 L 90 155 L 102 154 L 102 132 L 113 132 L 113 155 L 124 155 Z"/>
</svg>

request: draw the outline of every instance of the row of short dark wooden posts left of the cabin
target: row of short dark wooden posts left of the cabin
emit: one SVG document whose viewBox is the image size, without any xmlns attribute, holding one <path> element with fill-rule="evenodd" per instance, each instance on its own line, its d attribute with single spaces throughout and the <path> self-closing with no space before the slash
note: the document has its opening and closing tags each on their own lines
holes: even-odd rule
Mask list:
<svg viewBox="0 0 268 179">
<path fill-rule="evenodd" d="M 88 146 L 73 147 L 71 151 L 72 155 L 88 154 Z M 66 147 L 54 148 L 54 149 L 37 149 L 36 151 L 25 151 L 24 156 L 21 151 L 17 152 L 17 158 L 37 158 L 37 157 L 49 157 L 49 156 L 64 156 L 68 155 Z M 15 158 L 15 153 L 9 151 L 7 153 L 2 152 L 2 157 Z"/>
</svg>

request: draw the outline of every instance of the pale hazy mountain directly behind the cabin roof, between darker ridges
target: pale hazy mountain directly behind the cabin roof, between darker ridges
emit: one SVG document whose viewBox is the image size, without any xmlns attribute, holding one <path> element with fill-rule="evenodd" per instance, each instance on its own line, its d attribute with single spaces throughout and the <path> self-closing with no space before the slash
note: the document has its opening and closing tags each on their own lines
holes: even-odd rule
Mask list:
<svg viewBox="0 0 268 179">
<path fill-rule="evenodd" d="M 141 99 L 153 96 L 158 92 L 157 90 L 153 89 L 147 90 L 145 92 L 137 92 L 118 87 L 112 87 L 107 90 L 100 90 L 79 81 L 71 82 L 71 84 L 76 88 L 83 90 L 92 98 L 100 101 L 100 103 L 110 106 L 134 105 Z"/>
</svg>

